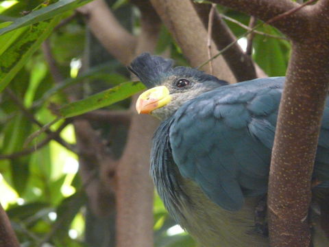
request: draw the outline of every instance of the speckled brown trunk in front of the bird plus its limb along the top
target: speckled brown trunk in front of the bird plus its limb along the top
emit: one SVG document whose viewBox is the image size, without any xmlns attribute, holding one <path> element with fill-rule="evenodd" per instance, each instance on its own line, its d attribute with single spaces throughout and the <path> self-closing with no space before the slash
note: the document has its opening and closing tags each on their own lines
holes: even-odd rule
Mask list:
<svg viewBox="0 0 329 247">
<path fill-rule="evenodd" d="M 329 1 L 298 10 L 285 0 L 213 2 L 268 21 L 292 40 L 272 151 L 269 229 L 271 246 L 309 246 L 310 178 L 328 94 Z"/>
</svg>

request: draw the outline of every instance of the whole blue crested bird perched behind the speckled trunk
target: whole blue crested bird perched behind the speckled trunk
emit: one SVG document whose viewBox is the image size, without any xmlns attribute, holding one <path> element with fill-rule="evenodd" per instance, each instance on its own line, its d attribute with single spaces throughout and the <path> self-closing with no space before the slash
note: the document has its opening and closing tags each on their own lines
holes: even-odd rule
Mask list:
<svg viewBox="0 0 329 247">
<path fill-rule="evenodd" d="M 257 230 L 255 209 L 267 193 L 284 77 L 230 85 L 149 54 L 128 69 L 149 88 L 136 110 L 162 121 L 151 176 L 171 216 L 205 247 L 269 246 Z M 329 205 L 328 100 L 313 178 L 320 181 L 313 192 L 322 198 L 313 200 L 313 246 L 329 246 L 319 220 Z"/>
</svg>

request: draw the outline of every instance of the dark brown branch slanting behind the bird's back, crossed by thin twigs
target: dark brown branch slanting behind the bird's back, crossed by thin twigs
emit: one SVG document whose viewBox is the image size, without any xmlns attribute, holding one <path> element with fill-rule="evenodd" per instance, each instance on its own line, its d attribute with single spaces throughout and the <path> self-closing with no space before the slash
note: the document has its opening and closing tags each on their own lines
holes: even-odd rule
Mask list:
<svg viewBox="0 0 329 247">
<path fill-rule="evenodd" d="M 193 7 L 204 24 L 204 27 L 207 27 L 211 5 L 194 3 Z M 236 39 L 226 23 L 224 23 L 221 19 L 221 16 L 219 16 L 217 10 L 214 13 L 212 39 L 214 40 L 218 50 L 234 43 Z M 230 49 L 223 52 L 223 58 L 228 63 L 228 67 L 230 67 L 230 70 L 234 73 L 234 76 L 238 82 L 256 78 L 254 62 L 249 56 L 247 56 L 247 54 L 243 52 L 238 43 L 234 43 Z"/>
</svg>

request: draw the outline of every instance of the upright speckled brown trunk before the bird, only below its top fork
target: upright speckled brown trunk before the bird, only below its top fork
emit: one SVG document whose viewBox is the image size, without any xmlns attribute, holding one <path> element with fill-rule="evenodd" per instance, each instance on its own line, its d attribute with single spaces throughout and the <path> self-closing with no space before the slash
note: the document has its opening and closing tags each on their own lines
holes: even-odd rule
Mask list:
<svg viewBox="0 0 329 247">
<path fill-rule="evenodd" d="M 309 56 L 310 52 L 315 56 Z M 323 50 L 315 47 L 293 44 L 269 177 L 269 228 L 273 246 L 310 244 L 307 221 L 310 178 L 328 92 L 328 72 L 320 70 L 329 66 L 328 57 L 324 58 L 323 54 Z M 326 54 L 329 56 L 329 50 Z M 307 70 L 300 69 L 306 66 Z"/>
</svg>

